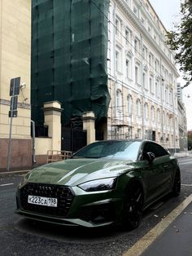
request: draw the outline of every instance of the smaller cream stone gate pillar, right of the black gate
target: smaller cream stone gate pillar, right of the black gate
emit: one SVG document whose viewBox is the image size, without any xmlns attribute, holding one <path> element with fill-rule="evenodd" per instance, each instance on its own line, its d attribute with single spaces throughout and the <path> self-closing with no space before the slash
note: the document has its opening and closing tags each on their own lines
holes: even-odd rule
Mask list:
<svg viewBox="0 0 192 256">
<path fill-rule="evenodd" d="M 92 143 L 95 141 L 95 128 L 94 128 L 94 113 L 86 112 L 83 113 L 83 130 L 87 131 L 87 144 Z"/>
</svg>

